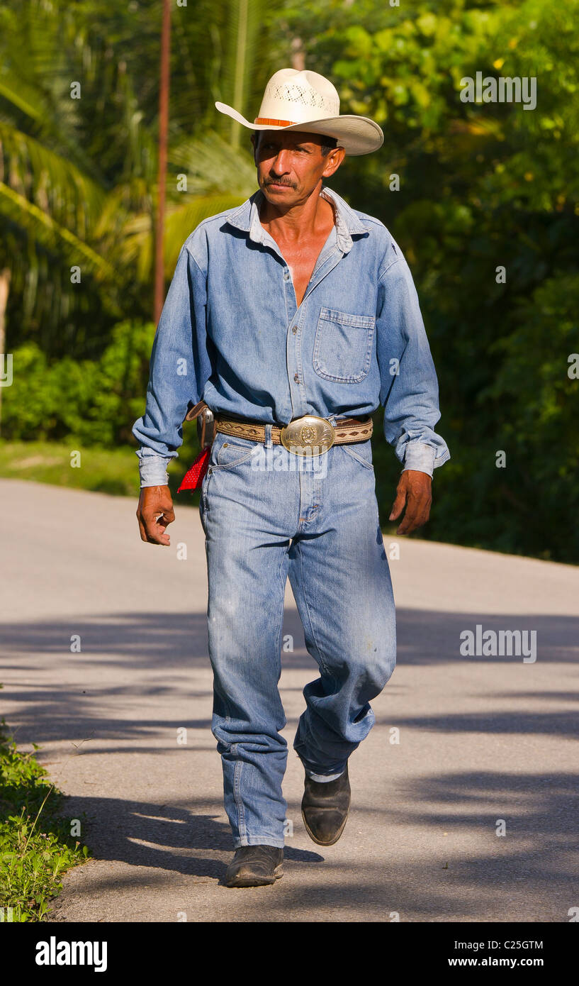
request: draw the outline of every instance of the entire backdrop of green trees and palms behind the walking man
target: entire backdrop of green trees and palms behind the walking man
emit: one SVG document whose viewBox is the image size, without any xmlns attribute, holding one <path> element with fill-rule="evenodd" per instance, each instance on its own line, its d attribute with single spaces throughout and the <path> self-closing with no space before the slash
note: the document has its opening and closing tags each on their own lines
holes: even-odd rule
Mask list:
<svg viewBox="0 0 579 986">
<path fill-rule="evenodd" d="M 342 112 L 385 134 L 329 183 L 384 221 L 417 282 L 452 455 L 421 534 L 574 562 L 578 13 L 577 0 L 173 7 L 164 255 L 168 279 L 194 226 L 255 187 L 249 135 L 214 102 L 251 117 L 270 75 L 301 52 L 337 86 Z M 151 311 L 159 30 L 158 4 L 0 10 L 0 267 L 13 275 L 7 348 L 24 371 L 3 394 L 13 440 L 112 449 L 142 413 L 146 339 L 113 328 Z M 537 107 L 462 102 L 461 80 L 479 71 L 536 78 Z M 75 262 L 82 284 L 70 283 Z M 190 431 L 175 475 L 194 452 Z M 387 516 L 398 463 L 380 439 L 374 450 Z"/>
</svg>

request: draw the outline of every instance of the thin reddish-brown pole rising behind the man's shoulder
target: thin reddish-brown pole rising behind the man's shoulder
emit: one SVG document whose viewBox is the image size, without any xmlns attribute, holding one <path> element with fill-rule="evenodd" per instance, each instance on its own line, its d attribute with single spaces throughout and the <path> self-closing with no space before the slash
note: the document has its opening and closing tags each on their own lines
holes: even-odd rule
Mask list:
<svg viewBox="0 0 579 986">
<path fill-rule="evenodd" d="M 159 177 L 157 181 L 157 222 L 155 228 L 155 323 L 161 318 L 164 302 L 164 198 L 166 185 L 166 143 L 168 131 L 168 90 L 169 90 L 169 52 L 170 52 L 170 0 L 162 0 L 161 28 L 161 85 L 159 89 Z"/>
</svg>

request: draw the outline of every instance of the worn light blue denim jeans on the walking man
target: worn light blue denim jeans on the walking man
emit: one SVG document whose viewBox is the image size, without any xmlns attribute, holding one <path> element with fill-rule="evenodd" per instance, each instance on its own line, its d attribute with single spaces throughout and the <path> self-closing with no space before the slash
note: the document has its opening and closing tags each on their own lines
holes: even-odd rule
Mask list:
<svg viewBox="0 0 579 986">
<path fill-rule="evenodd" d="M 212 732 L 233 844 L 284 845 L 288 749 L 278 683 L 287 578 L 320 676 L 303 690 L 294 749 L 343 771 L 396 665 L 396 618 L 369 440 L 319 457 L 218 433 L 203 480 Z"/>
</svg>

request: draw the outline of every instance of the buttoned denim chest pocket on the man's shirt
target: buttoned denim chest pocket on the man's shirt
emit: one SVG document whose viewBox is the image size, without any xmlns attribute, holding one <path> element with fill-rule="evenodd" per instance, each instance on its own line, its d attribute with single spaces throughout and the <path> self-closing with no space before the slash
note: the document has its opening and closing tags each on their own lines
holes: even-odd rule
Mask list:
<svg viewBox="0 0 579 986">
<path fill-rule="evenodd" d="M 376 318 L 322 308 L 316 327 L 313 368 L 337 384 L 359 384 L 372 358 Z"/>
</svg>

